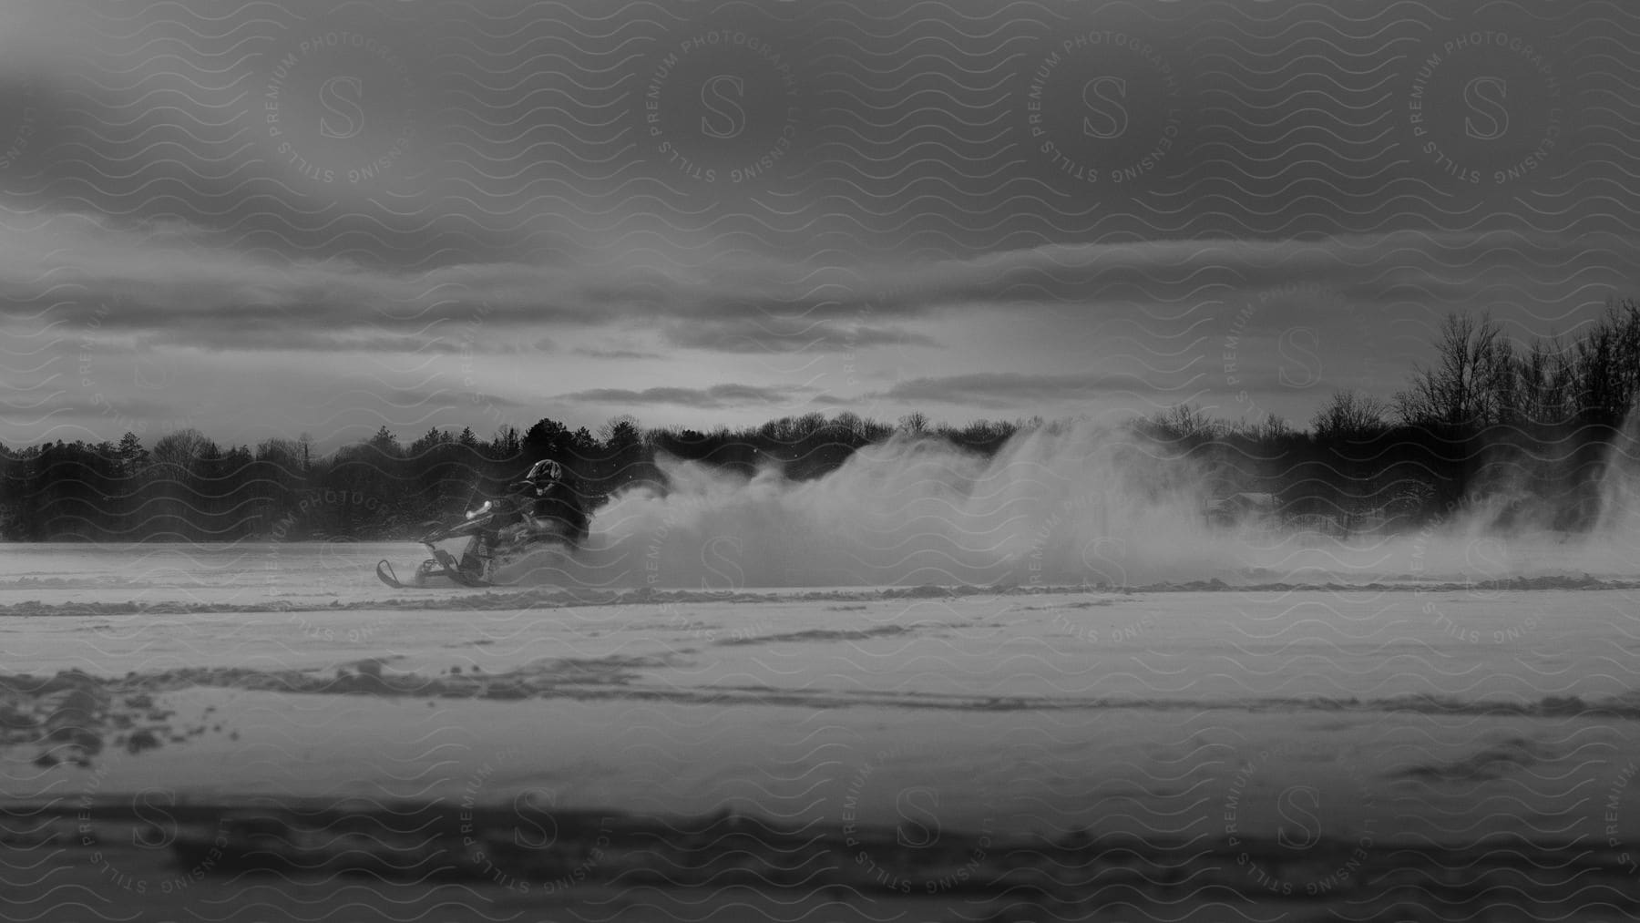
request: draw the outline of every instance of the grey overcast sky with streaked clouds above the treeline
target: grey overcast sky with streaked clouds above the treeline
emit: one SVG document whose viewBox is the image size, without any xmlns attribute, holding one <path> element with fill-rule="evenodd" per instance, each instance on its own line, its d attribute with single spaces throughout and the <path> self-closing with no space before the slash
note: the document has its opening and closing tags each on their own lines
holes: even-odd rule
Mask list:
<svg viewBox="0 0 1640 923">
<path fill-rule="evenodd" d="M 1304 423 L 1640 293 L 1640 10 L 0 5 L 7 444 Z"/>
</svg>

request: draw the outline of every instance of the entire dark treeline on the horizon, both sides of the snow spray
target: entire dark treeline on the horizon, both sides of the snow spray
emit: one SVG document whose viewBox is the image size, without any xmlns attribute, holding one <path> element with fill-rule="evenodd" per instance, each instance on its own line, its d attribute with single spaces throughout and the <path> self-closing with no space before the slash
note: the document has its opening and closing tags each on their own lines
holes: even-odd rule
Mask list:
<svg viewBox="0 0 1640 923">
<path fill-rule="evenodd" d="M 1332 395 L 1307 430 L 1278 418 L 1225 423 L 1192 407 L 1133 428 L 1187 464 L 1212 495 L 1273 493 L 1286 515 L 1342 531 L 1415 528 L 1491 505 L 1496 521 L 1589 528 L 1612 446 L 1640 389 L 1640 302 L 1612 303 L 1574 341 L 1520 346 L 1487 316 L 1450 315 L 1391 400 Z M 579 477 L 589 508 L 633 482 L 659 482 L 664 452 L 753 472 L 776 462 L 820 477 L 895 433 L 994 454 L 1041 418 L 938 426 L 809 413 L 754 428 L 643 430 L 615 418 L 599 434 L 543 418 L 487 439 L 430 430 L 410 444 L 385 426 L 321 456 L 310 439 L 218 446 L 195 430 L 151 446 L 0 446 L 0 536 L 15 541 L 231 541 L 320 536 L 408 538 L 474 495 L 503 489 L 533 461 L 556 457 Z"/>
</svg>

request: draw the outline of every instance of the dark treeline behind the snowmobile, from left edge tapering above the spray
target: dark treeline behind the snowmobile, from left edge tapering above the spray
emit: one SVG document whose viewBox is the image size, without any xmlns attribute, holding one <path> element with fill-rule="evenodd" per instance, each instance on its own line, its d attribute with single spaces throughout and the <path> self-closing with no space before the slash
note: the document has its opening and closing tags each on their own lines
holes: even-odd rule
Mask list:
<svg viewBox="0 0 1640 923">
<path fill-rule="evenodd" d="M 900 426 L 845 413 L 776 420 L 748 430 L 645 431 L 610 420 L 599 436 L 543 418 L 520 433 L 502 426 L 430 430 L 410 444 L 385 426 L 323 456 L 307 436 L 223 448 L 197 430 L 144 446 L 118 443 L 0 446 L 0 538 L 10 541 L 231 541 L 243 538 L 410 538 L 426 520 L 505 490 L 543 457 L 564 462 L 597 508 L 623 485 L 663 480 L 658 452 L 753 472 L 779 462 L 790 477 L 818 477 L 861 446 L 909 428 L 995 451 L 1017 425 L 933 428 L 920 415 Z"/>
</svg>

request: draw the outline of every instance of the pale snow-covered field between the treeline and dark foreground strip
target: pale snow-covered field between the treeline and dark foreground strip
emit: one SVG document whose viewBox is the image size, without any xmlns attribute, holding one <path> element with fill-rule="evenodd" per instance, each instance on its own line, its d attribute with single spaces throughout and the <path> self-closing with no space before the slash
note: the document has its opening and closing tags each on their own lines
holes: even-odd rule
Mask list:
<svg viewBox="0 0 1640 923">
<path fill-rule="evenodd" d="M 1337 844 L 1633 871 L 1632 584 L 405 592 L 384 554 L 8 549 L 3 793 L 1260 843 L 1287 861 L 1237 875 L 1274 893 L 1348 879 L 1291 862 Z"/>
</svg>

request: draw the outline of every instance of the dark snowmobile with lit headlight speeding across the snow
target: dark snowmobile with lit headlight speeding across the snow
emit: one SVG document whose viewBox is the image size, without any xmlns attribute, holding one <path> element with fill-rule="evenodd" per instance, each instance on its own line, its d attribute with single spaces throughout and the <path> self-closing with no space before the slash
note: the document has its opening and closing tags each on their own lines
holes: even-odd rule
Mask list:
<svg viewBox="0 0 1640 923">
<path fill-rule="evenodd" d="M 495 497 L 467 510 L 459 520 L 428 523 L 431 530 L 417 541 L 433 554 L 408 582 L 400 582 L 385 559 L 376 575 L 394 589 L 438 585 L 449 580 L 461 587 L 494 587 L 495 572 L 541 548 L 574 554 L 587 539 L 587 526 L 559 516 L 533 516 L 517 497 Z M 466 539 L 461 557 L 440 543 Z"/>
</svg>

